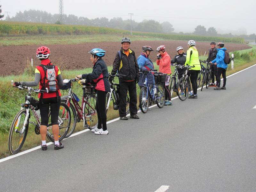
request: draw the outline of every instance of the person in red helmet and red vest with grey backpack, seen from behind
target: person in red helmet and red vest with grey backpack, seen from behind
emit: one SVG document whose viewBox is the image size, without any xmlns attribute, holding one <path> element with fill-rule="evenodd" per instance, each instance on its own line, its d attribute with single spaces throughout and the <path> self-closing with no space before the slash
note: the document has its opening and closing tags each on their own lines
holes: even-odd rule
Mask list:
<svg viewBox="0 0 256 192">
<path fill-rule="evenodd" d="M 24 85 L 24 86 L 37 86 L 40 82 L 39 89 L 45 90 L 45 77 L 48 70 L 52 70 L 55 73 L 57 80 L 55 92 L 44 92 L 39 93 L 38 98 L 40 98 L 39 109 L 41 114 L 41 127 L 40 134 L 42 138 L 41 149 L 46 150 L 46 132 L 48 124 L 48 114 L 49 108 L 51 108 L 51 121 L 52 121 L 52 133 L 54 136 L 54 149 L 58 150 L 64 148 L 64 145 L 59 142 L 59 124 L 58 116 L 60 110 L 60 89 L 59 87 L 63 85 L 62 76 L 60 74 L 60 69 L 57 66 L 52 65 L 49 60 L 50 49 L 48 47 L 42 46 L 36 50 L 36 57 L 41 60 L 41 65 L 36 66 L 35 80 L 31 82 L 15 82 L 14 86 Z M 48 69 L 48 70 L 47 70 Z M 54 75 L 53 75 L 54 76 Z M 52 76 L 51 76 L 52 78 Z M 58 86 L 57 86 L 58 85 Z"/>
</svg>

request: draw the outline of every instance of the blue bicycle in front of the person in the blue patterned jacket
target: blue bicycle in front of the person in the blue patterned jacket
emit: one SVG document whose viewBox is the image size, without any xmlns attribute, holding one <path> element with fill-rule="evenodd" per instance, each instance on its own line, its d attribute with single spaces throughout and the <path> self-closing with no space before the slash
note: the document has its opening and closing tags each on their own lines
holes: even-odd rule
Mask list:
<svg viewBox="0 0 256 192">
<path fill-rule="evenodd" d="M 144 85 L 140 89 L 140 110 L 142 113 L 147 113 L 148 111 L 148 104 L 151 102 L 156 102 L 157 107 L 163 108 L 164 101 L 165 101 L 165 94 L 164 94 L 164 86 L 162 82 L 165 82 L 166 74 L 157 72 L 156 70 L 143 72 L 142 75 L 146 75 L 147 73 L 154 73 L 154 83 L 153 85 L 148 84 L 148 78 L 146 76 Z M 142 77 L 143 77 L 142 76 Z M 143 79 L 143 78 L 142 78 Z"/>
</svg>

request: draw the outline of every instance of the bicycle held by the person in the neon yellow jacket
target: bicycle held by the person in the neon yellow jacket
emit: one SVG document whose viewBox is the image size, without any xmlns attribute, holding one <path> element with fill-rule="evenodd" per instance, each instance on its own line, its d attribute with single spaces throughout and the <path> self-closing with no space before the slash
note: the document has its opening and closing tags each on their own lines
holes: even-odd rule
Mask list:
<svg viewBox="0 0 256 192">
<path fill-rule="evenodd" d="M 177 95 L 180 100 L 184 101 L 188 97 L 188 87 L 189 87 L 189 80 L 188 80 L 188 70 L 191 68 L 191 66 L 182 66 L 181 68 L 185 68 L 185 72 L 183 73 L 182 77 L 179 79 L 178 82 L 178 89 L 177 89 Z"/>
</svg>

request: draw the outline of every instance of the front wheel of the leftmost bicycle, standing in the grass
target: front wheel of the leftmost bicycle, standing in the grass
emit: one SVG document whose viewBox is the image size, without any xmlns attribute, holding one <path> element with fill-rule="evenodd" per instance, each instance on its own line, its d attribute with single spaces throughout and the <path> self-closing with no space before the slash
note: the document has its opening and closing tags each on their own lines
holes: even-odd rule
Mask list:
<svg viewBox="0 0 256 192">
<path fill-rule="evenodd" d="M 18 153 L 26 140 L 28 134 L 28 120 L 25 123 L 26 114 L 26 109 L 22 109 L 12 121 L 8 138 L 8 149 L 11 154 Z M 24 123 L 25 128 L 23 129 Z"/>
</svg>

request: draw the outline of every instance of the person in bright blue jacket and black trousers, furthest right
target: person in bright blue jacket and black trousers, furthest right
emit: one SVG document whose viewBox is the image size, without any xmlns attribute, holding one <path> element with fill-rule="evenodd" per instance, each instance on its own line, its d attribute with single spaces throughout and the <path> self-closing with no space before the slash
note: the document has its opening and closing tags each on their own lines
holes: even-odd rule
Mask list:
<svg viewBox="0 0 256 192">
<path fill-rule="evenodd" d="M 224 43 L 218 43 L 218 53 L 216 55 L 216 58 L 214 60 L 212 60 L 210 63 L 214 63 L 214 65 L 217 65 L 217 77 L 216 77 L 216 81 L 217 81 L 217 87 L 214 88 L 214 90 L 221 90 L 221 89 L 226 89 L 226 70 L 228 68 L 228 64 L 226 64 L 224 62 L 224 58 L 225 58 L 225 51 L 227 51 L 227 49 L 224 47 Z M 222 75 L 223 77 L 223 86 L 220 87 L 220 75 Z"/>
</svg>

